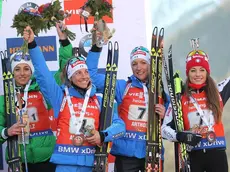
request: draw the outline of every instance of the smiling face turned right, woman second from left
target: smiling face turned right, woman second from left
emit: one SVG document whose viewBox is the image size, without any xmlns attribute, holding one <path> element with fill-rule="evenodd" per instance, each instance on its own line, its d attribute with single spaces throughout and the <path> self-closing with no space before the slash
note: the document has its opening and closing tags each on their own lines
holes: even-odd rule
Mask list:
<svg viewBox="0 0 230 172">
<path fill-rule="evenodd" d="M 90 82 L 88 69 L 79 69 L 71 76 L 70 80 L 80 88 L 87 88 Z"/>
</svg>

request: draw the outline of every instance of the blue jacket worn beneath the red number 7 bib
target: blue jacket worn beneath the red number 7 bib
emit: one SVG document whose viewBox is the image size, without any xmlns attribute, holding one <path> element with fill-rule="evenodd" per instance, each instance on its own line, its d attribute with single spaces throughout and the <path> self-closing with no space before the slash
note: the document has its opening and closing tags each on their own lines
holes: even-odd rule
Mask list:
<svg viewBox="0 0 230 172">
<path fill-rule="evenodd" d="M 103 93 L 105 75 L 97 73 L 99 57 L 100 57 L 100 53 L 90 51 L 88 53 L 86 64 L 88 66 L 88 70 L 89 70 L 92 82 L 97 87 L 97 91 L 100 93 Z M 134 75 L 129 77 L 129 82 L 131 82 L 131 85 L 133 87 L 138 87 L 138 88 L 143 87 L 140 81 Z M 126 85 L 127 85 L 127 81 L 125 80 L 119 79 L 116 82 L 115 99 L 117 101 L 118 106 L 122 102 L 124 91 L 126 89 Z M 166 108 L 168 107 L 168 104 L 169 104 L 169 96 L 167 95 L 167 103 L 165 103 Z M 128 140 L 125 137 L 119 138 L 113 141 L 111 154 L 128 156 L 128 157 L 145 158 L 146 157 L 146 140 L 140 141 L 140 140 Z M 164 148 L 162 148 L 162 159 L 164 159 L 163 155 L 164 155 Z"/>
</svg>

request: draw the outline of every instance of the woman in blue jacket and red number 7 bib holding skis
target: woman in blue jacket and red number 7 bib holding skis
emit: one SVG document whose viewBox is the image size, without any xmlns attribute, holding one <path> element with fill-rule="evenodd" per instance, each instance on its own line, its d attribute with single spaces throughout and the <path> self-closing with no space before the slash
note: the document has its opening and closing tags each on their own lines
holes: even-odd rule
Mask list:
<svg viewBox="0 0 230 172">
<path fill-rule="evenodd" d="M 103 92 L 105 76 L 97 73 L 98 53 L 90 51 L 86 60 L 90 77 L 99 92 Z M 145 171 L 146 131 L 148 114 L 148 76 L 150 53 L 145 47 L 136 47 L 131 52 L 130 64 L 133 75 L 126 80 L 117 80 L 116 101 L 118 113 L 126 125 L 124 137 L 113 142 L 111 154 L 116 156 L 115 166 L 118 172 Z M 165 107 L 169 103 L 165 95 L 165 106 L 156 104 L 156 113 L 164 117 Z M 162 148 L 163 149 L 163 148 Z M 162 150 L 162 160 L 163 160 Z"/>
</svg>

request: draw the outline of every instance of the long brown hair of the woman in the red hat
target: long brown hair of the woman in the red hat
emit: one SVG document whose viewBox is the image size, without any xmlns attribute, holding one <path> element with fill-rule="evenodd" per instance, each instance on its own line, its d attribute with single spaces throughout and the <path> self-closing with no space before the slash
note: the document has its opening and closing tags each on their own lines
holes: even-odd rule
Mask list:
<svg viewBox="0 0 230 172">
<path fill-rule="evenodd" d="M 191 95 L 191 88 L 188 85 L 188 78 L 185 83 L 185 96 L 188 98 Z M 207 106 L 213 112 L 214 119 L 216 123 L 221 122 L 223 109 L 220 104 L 220 94 L 216 87 L 215 81 L 212 77 L 207 74 L 206 85 L 204 86 L 204 91 L 207 97 Z"/>
</svg>

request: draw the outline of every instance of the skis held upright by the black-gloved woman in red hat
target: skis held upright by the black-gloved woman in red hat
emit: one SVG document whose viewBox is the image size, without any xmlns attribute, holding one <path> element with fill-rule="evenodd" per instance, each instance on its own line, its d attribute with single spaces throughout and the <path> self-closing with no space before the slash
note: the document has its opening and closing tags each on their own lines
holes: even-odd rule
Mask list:
<svg viewBox="0 0 230 172">
<path fill-rule="evenodd" d="M 167 81 L 170 101 L 172 105 L 173 120 L 176 131 L 183 131 L 183 117 L 181 106 L 181 92 L 182 92 L 182 80 L 179 77 L 179 73 L 176 72 L 173 75 L 173 62 L 172 62 L 172 45 L 168 51 L 168 66 L 164 60 L 164 72 Z M 175 151 L 175 171 L 176 172 L 190 172 L 190 165 L 188 160 L 188 154 L 186 151 L 186 145 L 184 143 L 174 143 Z"/>
</svg>

